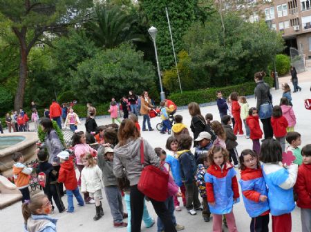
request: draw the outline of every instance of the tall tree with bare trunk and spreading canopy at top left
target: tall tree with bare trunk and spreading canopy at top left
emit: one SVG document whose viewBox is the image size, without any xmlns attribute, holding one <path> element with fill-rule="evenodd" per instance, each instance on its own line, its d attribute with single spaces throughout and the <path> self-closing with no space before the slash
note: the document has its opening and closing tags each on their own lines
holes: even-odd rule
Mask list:
<svg viewBox="0 0 311 232">
<path fill-rule="evenodd" d="M 19 81 L 15 109 L 23 105 L 30 50 L 38 41 L 49 43 L 51 35 L 62 32 L 69 23 L 74 23 L 92 3 L 91 0 L 0 0 L 0 23 L 11 28 L 19 44 Z"/>
</svg>

